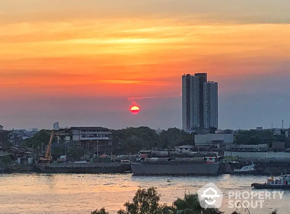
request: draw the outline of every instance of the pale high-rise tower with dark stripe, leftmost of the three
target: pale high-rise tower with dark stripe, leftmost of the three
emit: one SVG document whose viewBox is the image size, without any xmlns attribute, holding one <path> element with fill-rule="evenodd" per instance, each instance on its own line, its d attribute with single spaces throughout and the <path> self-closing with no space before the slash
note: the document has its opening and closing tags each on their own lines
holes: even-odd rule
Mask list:
<svg viewBox="0 0 290 214">
<path fill-rule="evenodd" d="M 199 129 L 200 125 L 200 83 L 199 77 L 190 74 L 182 76 L 182 129 Z"/>
</svg>

